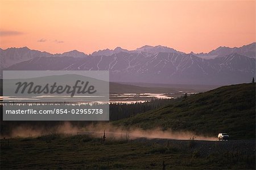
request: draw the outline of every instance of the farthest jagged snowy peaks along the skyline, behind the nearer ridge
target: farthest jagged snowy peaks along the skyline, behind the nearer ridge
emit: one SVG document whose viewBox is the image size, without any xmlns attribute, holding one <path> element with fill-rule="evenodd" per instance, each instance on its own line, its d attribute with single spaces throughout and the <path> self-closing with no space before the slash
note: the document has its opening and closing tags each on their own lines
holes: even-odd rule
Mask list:
<svg viewBox="0 0 256 170">
<path fill-rule="evenodd" d="M 113 54 L 119 53 L 119 52 L 126 52 L 126 53 L 150 53 L 150 54 L 156 54 L 159 52 L 175 52 L 175 53 L 182 53 L 184 52 L 177 51 L 174 48 L 165 47 L 162 45 L 157 46 L 150 46 L 150 45 L 144 45 L 143 47 L 137 48 L 135 50 L 127 50 L 123 49 L 121 47 L 117 47 L 115 49 L 103 49 L 99 51 L 93 52 L 92 56 L 111 56 Z M 193 53 L 193 55 L 196 55 L 198 57 L 201 57 L 203 59 L 212 59 L 214 57 L 223 57 L 226 55 L 229 55 L 231 53 L 238 53 L 243 56 L 256 58 L 256 43 L 251 43 L 248 45 L 243 45 L 242 47 L 218 47 L 216 49 L 213 49 L 209 53 Z M 22 48 L 7 48 L 7 49 L 1 49 L 0 48 L 0 57 L 2 59 L 1 63 L 3 64 L 2 67 L 6 68 L 9 67 L 12 64 L 19 63 L 20 61 L 26 61 L 29 59 L 32 59 L 33 57 L 48 57 L 48 56 L 70 56 L 70 57 L 86 57 L 89 56 L 85 54 L 84 52 L 80 52 L 77 50 L 64 52 L 64 53 L 56 53 L 52 54 L 49 52 L 41 52 L 34 49 L 29 49 L 27 47 Z M 11 61 L 11 60 L 15 61 Z"/>
</svg>

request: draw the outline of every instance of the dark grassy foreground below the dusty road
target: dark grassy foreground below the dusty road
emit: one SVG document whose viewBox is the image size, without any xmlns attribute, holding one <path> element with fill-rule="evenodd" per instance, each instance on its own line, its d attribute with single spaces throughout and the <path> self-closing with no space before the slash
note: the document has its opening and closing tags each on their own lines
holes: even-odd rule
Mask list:
<svg viewBox="0 0 256 170">
<path fill-rule="evenodd" d="M 164 161 L 164 165 L 163 165 Z M 1 139 L 1 169 L 255 169 L 255 140 Z"/>
</svg>

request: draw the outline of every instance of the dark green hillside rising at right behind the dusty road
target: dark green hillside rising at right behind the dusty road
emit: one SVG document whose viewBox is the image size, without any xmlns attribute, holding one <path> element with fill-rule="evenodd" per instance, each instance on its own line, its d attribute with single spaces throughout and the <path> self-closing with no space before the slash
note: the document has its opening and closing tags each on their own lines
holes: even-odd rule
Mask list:
<svg viewBox="0 0 256 170">
<path fill-rule="evenodd" d="M 113 124 L 209 136 L 227 132 L 231 139 L 255 139 L 255 83 L 222 86 Z"/>
</svg>

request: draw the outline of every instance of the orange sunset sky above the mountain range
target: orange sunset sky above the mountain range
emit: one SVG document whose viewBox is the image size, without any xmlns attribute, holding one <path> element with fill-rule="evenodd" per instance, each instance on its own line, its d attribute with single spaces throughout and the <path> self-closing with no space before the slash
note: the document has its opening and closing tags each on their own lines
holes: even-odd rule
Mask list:
<svg viewBox="0 0 256 170">
<path fill-rule="evenodd" d="M 0 1 L 0 47 L 183 52 L 255 42 L 255 1 Z"/>
</svg>

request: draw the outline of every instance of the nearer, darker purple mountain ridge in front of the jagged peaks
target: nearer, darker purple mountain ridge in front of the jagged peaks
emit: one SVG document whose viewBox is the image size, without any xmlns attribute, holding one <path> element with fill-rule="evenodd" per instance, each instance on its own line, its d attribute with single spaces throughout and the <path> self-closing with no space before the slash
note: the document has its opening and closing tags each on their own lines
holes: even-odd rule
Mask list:
<svg viewBox="0 0 256 170">
<path fill-rule="evenodd" d="M 255 75 L 255 59 L 237 53 L 205 60 L 192 54 L 118 53 L 93 57 L 36 57 L 6 70 L 109 71 L 114 82 L 237 84 Z"/>
</svg>

